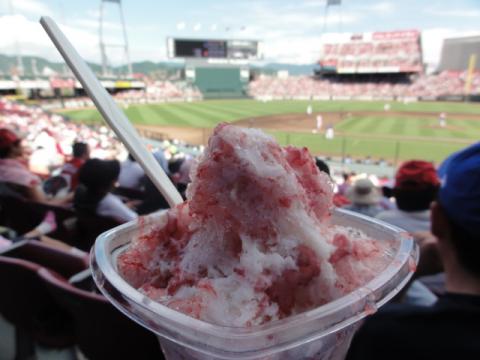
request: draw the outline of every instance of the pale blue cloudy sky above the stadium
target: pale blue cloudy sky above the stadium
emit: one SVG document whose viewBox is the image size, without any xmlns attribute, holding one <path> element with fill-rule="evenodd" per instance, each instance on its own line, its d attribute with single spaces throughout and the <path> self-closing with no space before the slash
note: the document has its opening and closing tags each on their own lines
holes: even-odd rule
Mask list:
<svg viewBox="0 0 480 360">
<path fill-rule="evenodd" d="M 325 1 L 121 0 L 132 61 L 165 60 L 171 36 L 256 39 L 264 44 L 265 62 L 311 64 L 326 33 L 418 29 L 424 61 L 436 64 L 443 39 L 480 34 L 480 0 L 342 0 L 326 17 Z M 122 43 L 118 6 L 103 7 L 106 42 Z M 100 0 L 0 0 L 0 53 L 18 48 L 24 55 L 60 60 L 38 24 L 48 15 L 80 55 L 100 63 L 99 14 Z M 119 49 L 107 55 L 114 65 L 124 61 Z"/>
</svg>

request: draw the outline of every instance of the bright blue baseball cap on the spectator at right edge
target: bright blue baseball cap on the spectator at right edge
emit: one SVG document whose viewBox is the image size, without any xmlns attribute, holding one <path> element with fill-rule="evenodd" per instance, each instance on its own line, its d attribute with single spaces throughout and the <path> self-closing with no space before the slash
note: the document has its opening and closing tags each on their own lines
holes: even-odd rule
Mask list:
<svg viewBox="0 0 480 360">
<path fill-rule="evenodd" d="M 448 157 L 438 169 L 438 200 L 450 219 L 480 234 L 480 142 Z"/>
</svg>

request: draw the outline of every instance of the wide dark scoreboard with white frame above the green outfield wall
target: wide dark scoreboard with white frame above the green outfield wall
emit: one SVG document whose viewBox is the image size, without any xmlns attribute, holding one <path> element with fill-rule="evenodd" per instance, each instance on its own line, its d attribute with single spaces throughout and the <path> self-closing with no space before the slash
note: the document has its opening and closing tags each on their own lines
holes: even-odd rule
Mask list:
<svg viewBox="0 0 480 360">
<path fill-rule="evenodd" d="M 167 39 L 169 58 L 196 59 L 260 59 L 260 43 L 256 40 Z"/>
</svg>

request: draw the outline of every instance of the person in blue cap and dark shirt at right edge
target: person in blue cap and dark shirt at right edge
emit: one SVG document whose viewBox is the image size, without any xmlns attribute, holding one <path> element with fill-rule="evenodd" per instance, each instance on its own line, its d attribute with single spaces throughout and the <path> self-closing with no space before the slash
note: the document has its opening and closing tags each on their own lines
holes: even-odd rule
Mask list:
<svg viewBox="0 0 480 360">
<path fill-rule="evenodd" d="M 431 231 L 447 292 L 431 306 L 383 307 L 354 336 L 347 360 L 480 359 L 480 143 L 438 174 Z"/>
</svg>

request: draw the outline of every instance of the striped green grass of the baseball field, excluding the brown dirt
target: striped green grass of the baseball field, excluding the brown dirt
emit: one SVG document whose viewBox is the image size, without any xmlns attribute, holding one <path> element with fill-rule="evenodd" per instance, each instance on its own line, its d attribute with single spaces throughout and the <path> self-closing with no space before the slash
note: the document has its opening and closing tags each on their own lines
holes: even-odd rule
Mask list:
<svg viewBox="0 0 480 360">
<path fill-rule="evenodd" d="M 211 100 L 193 103 L 131 105 L 125 109 L 128 118 L 137 124 L 175 125 L 211 128 L 219 122 L 236 121 L 258 116 L 305 113 L 311 104 L 314 112 L 383 111 L 385 101 L 270 101 Z M 311 133 L 271 131 L 282 144 L 307 146 L 314 153 L 350 154 L 384 159 L 423 158 L 441 161 L 448 154 L 480 138 L 480 105 L 446 102 L 391 102 L 390 112 L 425 113 L 414 116 L 379 114 L 346 116 L 335 130 L 341 133 L 327 141 Z M 457 116 L 448 119 L 448 128 L 438 128 L 437 120 L 428 113 L 478 114 L 478 119 Z M 64 112 L 73 120 L 101 122 L 94 109 Z"/>
</svg>

